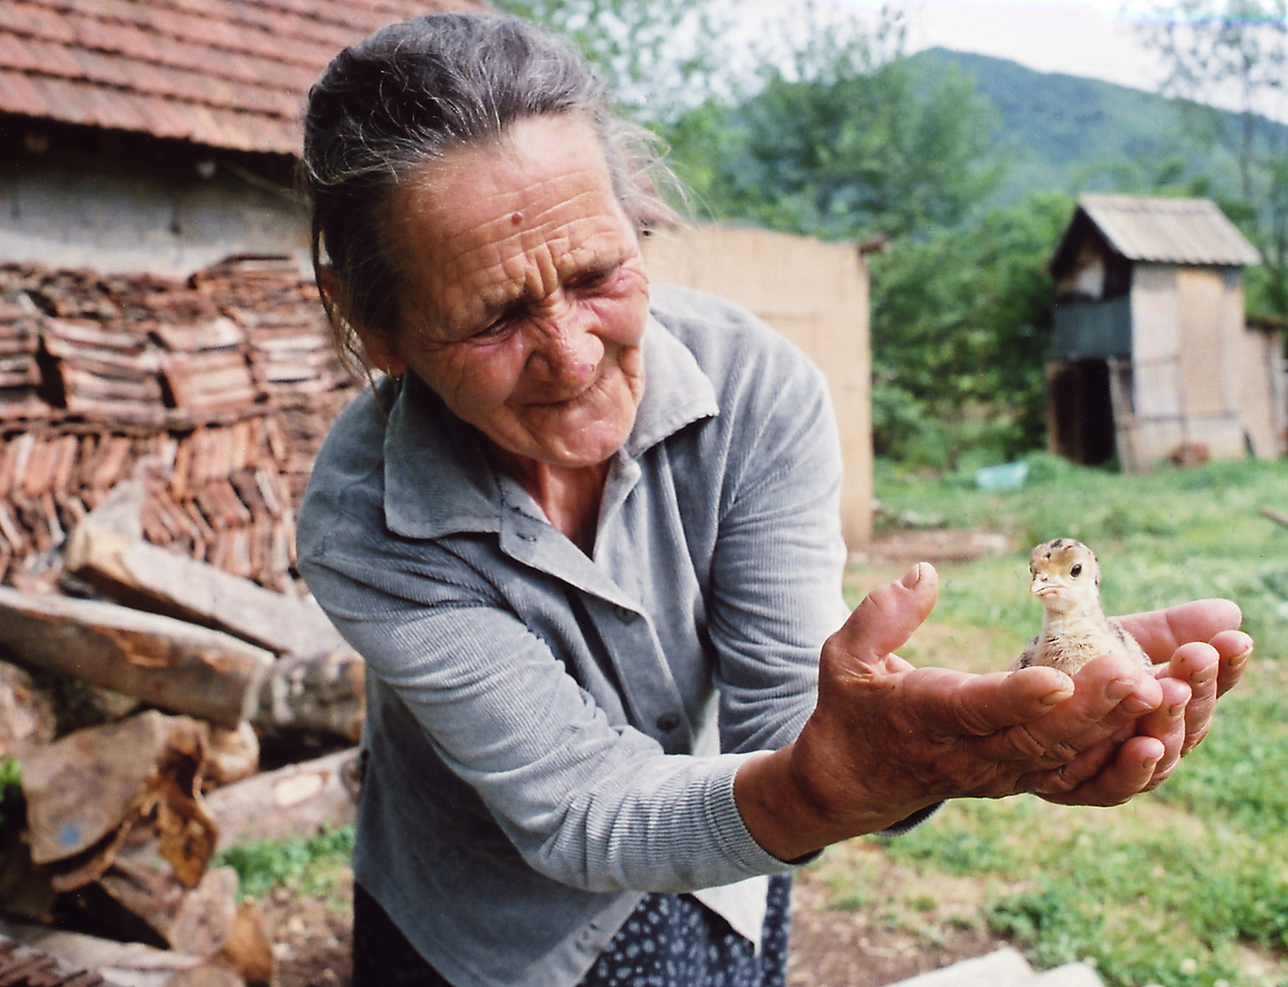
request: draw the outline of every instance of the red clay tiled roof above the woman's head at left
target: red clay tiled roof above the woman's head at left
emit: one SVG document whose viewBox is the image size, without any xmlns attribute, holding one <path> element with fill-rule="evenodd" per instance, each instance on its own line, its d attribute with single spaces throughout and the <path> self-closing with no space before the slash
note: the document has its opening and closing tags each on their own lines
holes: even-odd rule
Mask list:
<svg viewBox="0 0 1288 987">
<path fill-rule="evenodd" d="M 298 155 L 309 86 L 384 24 L 480 0 L 4 0 L 0 113 Z"/>
</svg>

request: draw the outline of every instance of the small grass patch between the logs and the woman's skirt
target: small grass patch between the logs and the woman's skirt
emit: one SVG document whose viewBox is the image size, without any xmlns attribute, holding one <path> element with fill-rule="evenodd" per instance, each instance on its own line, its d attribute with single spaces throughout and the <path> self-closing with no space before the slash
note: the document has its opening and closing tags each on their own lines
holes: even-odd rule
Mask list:
<svg viewBox="0 0 1288 987">
<path fill-rule="evenodd" d="M 337 826 L 307 839 L 229 847 L 215 863 L 237 871 L 238 894 L 243 898 L 259 898 L 281 886 L 339 906 L 352 852 L 353 826 Z"/>
</svg>

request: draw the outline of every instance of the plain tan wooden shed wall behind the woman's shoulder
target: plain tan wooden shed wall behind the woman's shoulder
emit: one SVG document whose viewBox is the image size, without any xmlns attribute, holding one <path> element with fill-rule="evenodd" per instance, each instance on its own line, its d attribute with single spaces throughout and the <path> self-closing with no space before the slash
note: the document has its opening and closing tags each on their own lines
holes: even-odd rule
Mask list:
<svg viewBox="0 0 1288 987">
<path fill-rule="evenodd" d="M 827 376 L 841 433 L 841 531 L 872 540 L 872 361 L 864 247 L 766 229 L 662 229 L 644 242 L 654 281 L 737 302 L 800 347 Z"/>
</svg>

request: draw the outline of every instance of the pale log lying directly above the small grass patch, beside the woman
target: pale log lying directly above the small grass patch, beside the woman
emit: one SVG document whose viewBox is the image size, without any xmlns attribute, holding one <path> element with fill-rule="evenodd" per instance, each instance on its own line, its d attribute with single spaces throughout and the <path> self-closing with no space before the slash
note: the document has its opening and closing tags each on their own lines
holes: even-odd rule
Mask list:
<svg viewBox="0 0 1288 987">
<path fill-rule="evenodd" d="M 357 817 L 358 749 L 264 772 L 206 796 L 219 848 L 255 840 L 316 836 Z"/>
</svg>

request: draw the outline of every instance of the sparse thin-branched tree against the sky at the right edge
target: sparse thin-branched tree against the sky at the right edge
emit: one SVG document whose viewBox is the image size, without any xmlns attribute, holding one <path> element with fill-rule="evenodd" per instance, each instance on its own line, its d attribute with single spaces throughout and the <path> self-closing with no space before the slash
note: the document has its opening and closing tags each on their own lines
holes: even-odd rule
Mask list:
<svg viewBox="0 0 1288 987">
<path fill-rule="evenodd" d="M 1220 201 L 1266 262 L 1251 273 L 1249 308 L 1288 314 L 1288 126 L 1267 116 L 1288 85 L 1288 0 L 1154 3 L 1144 31 L 1168 67 L 1166 93 L 1238 101 L 1234 116 L 1191 103 L 1189 126 L 1238 162 L 1238 193 Z"/>
</svg>

